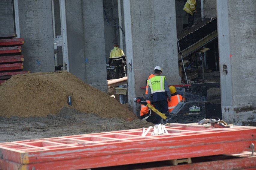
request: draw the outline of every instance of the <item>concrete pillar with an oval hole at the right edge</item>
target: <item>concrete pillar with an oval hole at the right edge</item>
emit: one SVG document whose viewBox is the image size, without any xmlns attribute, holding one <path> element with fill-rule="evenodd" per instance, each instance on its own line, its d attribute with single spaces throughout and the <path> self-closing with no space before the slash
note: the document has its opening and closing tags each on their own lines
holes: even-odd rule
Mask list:
<svg viewBox="0 0 256 170">
<path fill-rule="evenodd" d="M 256 3 L 217 0 L 222 119 L 256 125 Z"/>
</svg>

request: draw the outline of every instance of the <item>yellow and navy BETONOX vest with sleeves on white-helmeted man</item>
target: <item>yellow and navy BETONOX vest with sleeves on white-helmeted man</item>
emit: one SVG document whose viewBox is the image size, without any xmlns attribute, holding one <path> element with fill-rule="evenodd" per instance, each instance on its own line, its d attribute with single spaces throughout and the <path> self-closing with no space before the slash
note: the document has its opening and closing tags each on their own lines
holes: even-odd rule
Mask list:
<svg viewBox="0 0 256 170">
<path fill-rule="evenodd" d="M 154 102 L 166 100 L 171 96 L 165 76 L 154 76 L 148 80 L 148 99 Z"/>
</svg>

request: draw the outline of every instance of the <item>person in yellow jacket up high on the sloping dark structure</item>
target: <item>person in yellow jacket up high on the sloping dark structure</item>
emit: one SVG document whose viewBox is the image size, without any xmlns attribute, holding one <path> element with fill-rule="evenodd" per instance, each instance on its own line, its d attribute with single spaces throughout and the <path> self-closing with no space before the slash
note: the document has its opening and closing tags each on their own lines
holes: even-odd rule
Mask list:
<svg viewBox="0 0 256 170">
<path fill-rule="evenodd" d="M 184 5 L 183 10 L 187 12 L 187 22 L 188 27 L 194 27 L 194 13 L 197 12 L 196 10 L 196 0 L 187 0 L 186 4 Z"/>
</svg>

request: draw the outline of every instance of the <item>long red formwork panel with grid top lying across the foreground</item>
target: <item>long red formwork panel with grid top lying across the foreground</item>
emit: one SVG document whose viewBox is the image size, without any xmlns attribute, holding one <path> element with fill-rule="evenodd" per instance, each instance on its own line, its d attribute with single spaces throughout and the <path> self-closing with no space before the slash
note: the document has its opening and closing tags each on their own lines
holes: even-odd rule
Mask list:
<svg viewBox="0 0 256 170">
<path fill-rule="evenodd" d="M 128 166 L 220 154 L 239 154 L 251 151 L 250 146 L 256 145 L 256 127 L 213 128 L 206 125 L 172 123 L 166 126 L 166 129 L 168 134 L 151 136 L 151 129 L 145 137 L 141 136 L 142 129 L 131 129 L 0 143 L 0 169 L 63 170 Z M 255 157 L 242 159 L 246 165 L 234 161 L 230 164 L 237 164 L 239 167 L 243 165 L 243 169 L 256 165 Z M 187 166 L 184 169 L 190 169 L 191 166 L 192 169 L 193 165 L 182 166 Z M 207 167 L 207 164 L 204 166 Z M 171 166 L 161 169 L 171 169 Z"/>
</svg>

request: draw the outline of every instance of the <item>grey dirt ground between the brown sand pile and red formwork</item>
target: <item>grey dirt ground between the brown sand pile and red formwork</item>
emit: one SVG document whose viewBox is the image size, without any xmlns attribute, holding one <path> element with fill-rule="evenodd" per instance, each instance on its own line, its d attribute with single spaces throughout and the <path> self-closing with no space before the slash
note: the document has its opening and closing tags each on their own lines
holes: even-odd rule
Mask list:
<svg viewBox="0 0 256 170">
<path fill-rule="evenodd" d="M 143 128 L 151 125 L 145 120 L 102 118 L 96 114 L 64 107 L 57 115 L 50 114 L 46 117 L 0 117 L 0 143 Z"/>
</svg>

